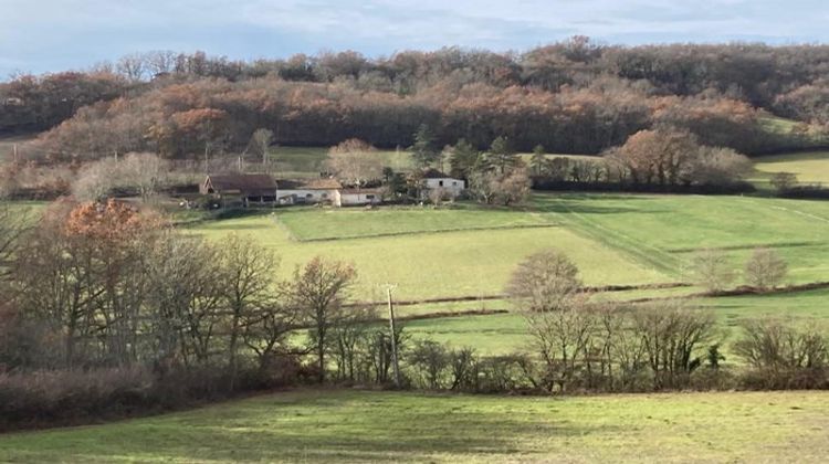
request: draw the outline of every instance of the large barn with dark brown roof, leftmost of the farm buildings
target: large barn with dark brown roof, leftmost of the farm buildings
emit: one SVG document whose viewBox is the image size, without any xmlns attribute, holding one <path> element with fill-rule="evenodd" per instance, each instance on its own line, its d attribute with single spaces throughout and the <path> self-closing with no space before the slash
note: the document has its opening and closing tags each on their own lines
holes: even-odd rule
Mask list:
<svg viewBox="0 0 829 464">
<path fill-rule="evenodd" d="M 208 175 L 199 192 L 221 200 L 222 204 L 273 204 L 276 201 L 276 181 L 263 173 Z"/>
</svg>

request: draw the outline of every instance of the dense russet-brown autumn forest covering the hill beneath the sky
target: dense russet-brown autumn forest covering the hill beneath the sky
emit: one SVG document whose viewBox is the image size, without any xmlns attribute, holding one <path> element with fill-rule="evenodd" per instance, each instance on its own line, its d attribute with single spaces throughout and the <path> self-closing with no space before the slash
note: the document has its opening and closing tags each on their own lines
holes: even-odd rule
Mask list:
<svg viewBox="0 0 829 464">
<path fill-rule="evenodd" d="M 48 130 L 28 149 L 57 161 L 241 150 L 258 128 L 282 145 L 356 137 L 408 147 L 421 124 L 440 144 L 484 148 L 504 136 L 520 150 L 571 154 L 671 127 L 755 155 L 819 143 L 828 70 L 826 45 L 627 48 L 580 36 L 524 53 L 452 48 L 378 59 L 148 52 L 0 84 L 0 134 Z M 769 130 L 774 116 L 796 123 Z"/>
</svg>

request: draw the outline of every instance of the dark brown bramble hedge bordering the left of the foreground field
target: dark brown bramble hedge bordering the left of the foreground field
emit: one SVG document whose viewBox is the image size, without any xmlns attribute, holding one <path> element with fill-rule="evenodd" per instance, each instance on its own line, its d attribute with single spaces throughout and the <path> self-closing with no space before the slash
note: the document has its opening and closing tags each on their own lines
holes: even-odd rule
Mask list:
<svg viewBox="0 0 829 464">
<path fill-rule="evenodd" d="M 245 391 L 293 384 L 294 358 L 245 369 L 231 382 L 221 367 L 169 372 L 147 367 L 0 373 L 0 431 L 70 425 L 177 410 Z"/>
</svg>

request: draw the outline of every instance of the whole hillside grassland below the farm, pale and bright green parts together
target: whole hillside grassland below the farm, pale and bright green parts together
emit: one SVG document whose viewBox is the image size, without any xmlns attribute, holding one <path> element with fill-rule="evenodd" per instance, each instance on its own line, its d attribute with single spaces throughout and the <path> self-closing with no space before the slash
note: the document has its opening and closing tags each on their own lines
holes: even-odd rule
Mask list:
<svg viewBox="0 0 829 464">
<path fill-rule="evenodd" d="M 597 286 L 686 281 L 704 247 L 723 250 L 737 272 L 768 246 L 788 261 L 788 283 L 829 276 L 829 202 L 820 201 L 541 193 L 514 211 L 285 208 L 192 232 L 251 234 L 282 256 L 285 276 L 315 255 L 354 262 L 360 297 L 386 282 L 403 299 L 499 294 L 523 257 L 546 247 L 568 253 Z"/>
</svg>

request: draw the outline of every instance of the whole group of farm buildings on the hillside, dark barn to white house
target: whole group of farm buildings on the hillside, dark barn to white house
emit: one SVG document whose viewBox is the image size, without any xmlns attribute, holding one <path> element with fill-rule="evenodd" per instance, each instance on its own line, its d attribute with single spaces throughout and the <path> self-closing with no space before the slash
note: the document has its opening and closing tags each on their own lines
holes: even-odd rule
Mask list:
<svg viewBox="0 0 829 464">
<path fill-rule="evenodd" d="M 441 189 L 452 197 L 465 189 L 462 179 L 455 179 L 437 169 L 421 172 L 421 197 Z M 290 205 L 327 203 L 334 207 L 372 205 L 382 202 L 380 188 L 344 187 L 333 178 L 309 180 L 277 180 L 266 173 L 208 175 L 199 192 L 224 205 Z"/>
</svg>

